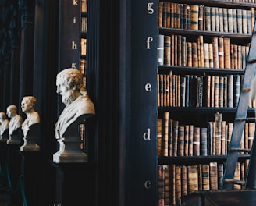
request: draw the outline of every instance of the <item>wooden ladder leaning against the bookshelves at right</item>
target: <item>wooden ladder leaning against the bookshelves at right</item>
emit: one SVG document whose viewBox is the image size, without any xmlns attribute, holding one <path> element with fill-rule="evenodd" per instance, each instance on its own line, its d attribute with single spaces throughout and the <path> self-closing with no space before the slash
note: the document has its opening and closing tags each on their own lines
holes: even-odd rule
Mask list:
<svg viewBox="0 0 256 206">
<path fill-rule="evenodd" d="M 244 124 L 250 120 L 247 118 L 248 103 L 250 100 L 251 83 L 254 79 L 256 67 L 256 28 L 254 23 L 254 30 L 251 36 L 251 44 L 249 53 L 247 55 L 247 65 L 244 71 L 244 81 L 240 90 L 240 98 L 237 105 L 236 117 L 233 124 L 233 133 L 229 144 L 229 151 L 226 160 L 226 167 L 222 179 L 222 189 L 232 190 L 233 184 L 244 185 L 244 188 L 256 188 L 256 140 L 254 133 L 253 145 L 250 151 L 240 148 L 240 142 L 243 135 Z M 254 85 L 255 87 L 256 85 Z M 255 118 L 252 118 L 255 120 Z M 234 179 L 236 170 L 236 163 L 238 162 L 240 151 L 250 152 L 250 162 L 247 169 L 245 181 Z"/>
</svg>

